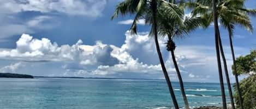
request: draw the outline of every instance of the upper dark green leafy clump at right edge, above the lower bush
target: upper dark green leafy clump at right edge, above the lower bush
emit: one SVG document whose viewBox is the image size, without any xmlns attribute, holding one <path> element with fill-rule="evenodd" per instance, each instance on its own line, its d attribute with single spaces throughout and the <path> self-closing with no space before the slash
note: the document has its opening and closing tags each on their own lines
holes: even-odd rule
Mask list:
<svg viewBox="0 0 256 109">
<path fill-rule="evenodd" d="M 248 74 L 250 71 L 256 72 L 256 50 L 246 56 L 240 56 L 236 59 L 237 74 Z M 232 66 L 234 71 L 234 66 Z M 234 73 L 234 72 L 233 72 Z"/>
</svg>

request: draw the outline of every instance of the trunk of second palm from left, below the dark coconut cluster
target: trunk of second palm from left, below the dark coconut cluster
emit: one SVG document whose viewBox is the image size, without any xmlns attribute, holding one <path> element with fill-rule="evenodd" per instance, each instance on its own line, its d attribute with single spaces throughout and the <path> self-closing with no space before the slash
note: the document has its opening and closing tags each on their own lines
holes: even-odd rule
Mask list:
<svg viewBox="0 0 256 109">
<path fill-rule="evenodd" d="M 184 100 L 184 104 L 185 104 L 185 108 L 189 109 L 189 105 L 188 105 L 188 99 L 186 97 L 186 93 L 184 91 L 184 85 L 183 85 L 183 80 L 181 78 L 181 73 L 180 70 L 178 69 L 178 65 L 175 59 L 175 55 L 174 55 L 174 50 L 171 50 L 171 57 L 172 57 L 172 61 L 174 62 L 174 67 L 176 69 L 177 75 L 178 75 L 178 81 L 180 82 L 180 86 L 181 86 L 181 93 L 183 96 L 183 100 Z"/>
</svg>

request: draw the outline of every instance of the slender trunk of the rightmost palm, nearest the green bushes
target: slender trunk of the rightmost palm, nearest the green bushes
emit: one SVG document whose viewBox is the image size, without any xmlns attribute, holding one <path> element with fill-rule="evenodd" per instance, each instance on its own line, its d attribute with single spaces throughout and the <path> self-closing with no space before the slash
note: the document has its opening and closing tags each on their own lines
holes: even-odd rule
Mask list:
<svg viewBox="0 0 256 109">
<path fill-rule="evenodd" d="M 240 90 L 238 75 L 237 75 L 237 72 L 236 72 L 236 59 L 235 59 L 235 53 L 234 53 L 234 48 L 233 48 L 233 41 L 232 41 L 231 32 L 232 31 L 229 29 L 229 42 L 230 42 L 232 59 L 233 59 L 234 74 L 235 74 L 235 79 L 236 79 L 236 88 L 237 88 L 237 92 L 238 92 L 240 107 L 241 107 L 241 109 L 243 109 L 243 99 L 242 99 L 242 93 L 241 93 L 241 90 Z"/>
</svg>

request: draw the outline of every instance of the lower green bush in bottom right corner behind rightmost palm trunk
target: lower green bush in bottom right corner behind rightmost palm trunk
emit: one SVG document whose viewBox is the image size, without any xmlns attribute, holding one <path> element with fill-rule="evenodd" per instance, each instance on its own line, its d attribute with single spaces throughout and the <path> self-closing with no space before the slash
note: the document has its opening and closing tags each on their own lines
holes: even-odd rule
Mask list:
<svg viewBox="0 0 256 109">
<path fill-rule="evenodd" d="M 237 87 L 235 86 L 235 102 L 237 109 L 240 109 Z M 256 109 L 256 75 L 251 75 L 240 82 L 242 91 L 243 106 L 245 109 Z"/>
</svg>

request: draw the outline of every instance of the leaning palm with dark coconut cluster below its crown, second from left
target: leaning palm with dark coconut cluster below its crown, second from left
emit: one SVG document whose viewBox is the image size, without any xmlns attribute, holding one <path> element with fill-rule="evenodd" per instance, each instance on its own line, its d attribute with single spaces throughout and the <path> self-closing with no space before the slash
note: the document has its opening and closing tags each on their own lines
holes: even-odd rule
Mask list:
<svg viewBox="0 0 256 109">
<path fill-rule="evenodd" d="M 183 9 L 183 7 L 180 7 Z M 159 14 L 158 14 L 158 34 L 160 36 L 167 36 L 168 37 L 168 42 L 166 43 L 166 48 L 169 52 L 171 52 L 171 57 L 172 61 L 174 63 L 176 73 L 178 75 L 178 80 L 180 82 L 181 86 L 181 93 L 184 101 L 185 108 L 189 108 L 188 100 L 186 97 L 186 93 L 184 91 L 184 85 L 183 85 L 183 80 L 181 77 L 180 70 L 178 69 L 177 61 L 175 59 L 175 53 L 174 50 L 176 48 L 174 39 L 183 37 L 184 34 L 188 34 L 190 31 L 194 30 L 197 27 L 200 27 L 201 22 L 204 22 L 203 18 L 200 17 L 186 17 L 184 20 L 183 18 L 178 18 L 182 21 L 175 20 L 176 18 L 168 16 L 168 13 L 164 12 L 164 10 L 159 9 Z M 146 18 L 146 23 L 150 24 L 152 22 L 152 16 L 147 16 Z M 152 33 L 152 32 L 151 32 Z"/>
</svg>

